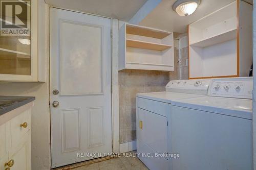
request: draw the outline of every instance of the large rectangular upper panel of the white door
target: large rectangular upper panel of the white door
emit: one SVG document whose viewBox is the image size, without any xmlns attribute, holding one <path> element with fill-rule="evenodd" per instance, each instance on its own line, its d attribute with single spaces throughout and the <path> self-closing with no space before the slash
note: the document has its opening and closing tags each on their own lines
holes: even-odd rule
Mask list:
<svg viewBox="0 0 256 170">
<path fill-rule="evenodd" d="M 60 22 L 60 94 L 101 94 L 102 27 Z"/>
</svg>

